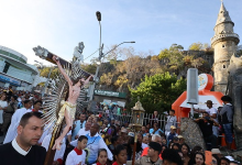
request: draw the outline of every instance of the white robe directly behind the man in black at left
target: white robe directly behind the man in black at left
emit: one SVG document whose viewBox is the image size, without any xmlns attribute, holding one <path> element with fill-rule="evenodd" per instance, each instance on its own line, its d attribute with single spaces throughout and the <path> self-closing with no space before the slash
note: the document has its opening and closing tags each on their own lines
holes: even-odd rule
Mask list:
<svg viewBox="0 0 242 165">
<path fill-rule="evenodd" d="M 13 116 L 12 116 L 12 120 L 11 120 L 11 124 L 9 127 L 9 130 L 6 134 L 6 139 L 3 141 L 3 144 L 11 142 L 16 135 L 16 128 L 19 127 L 20 120 L 23 117 L 23 114 L 25 114 L 26 112 L 31 112 L 31 109 L 25 109 L 25 108 L 21 108 L 18 109 Z"/>
</svg>

